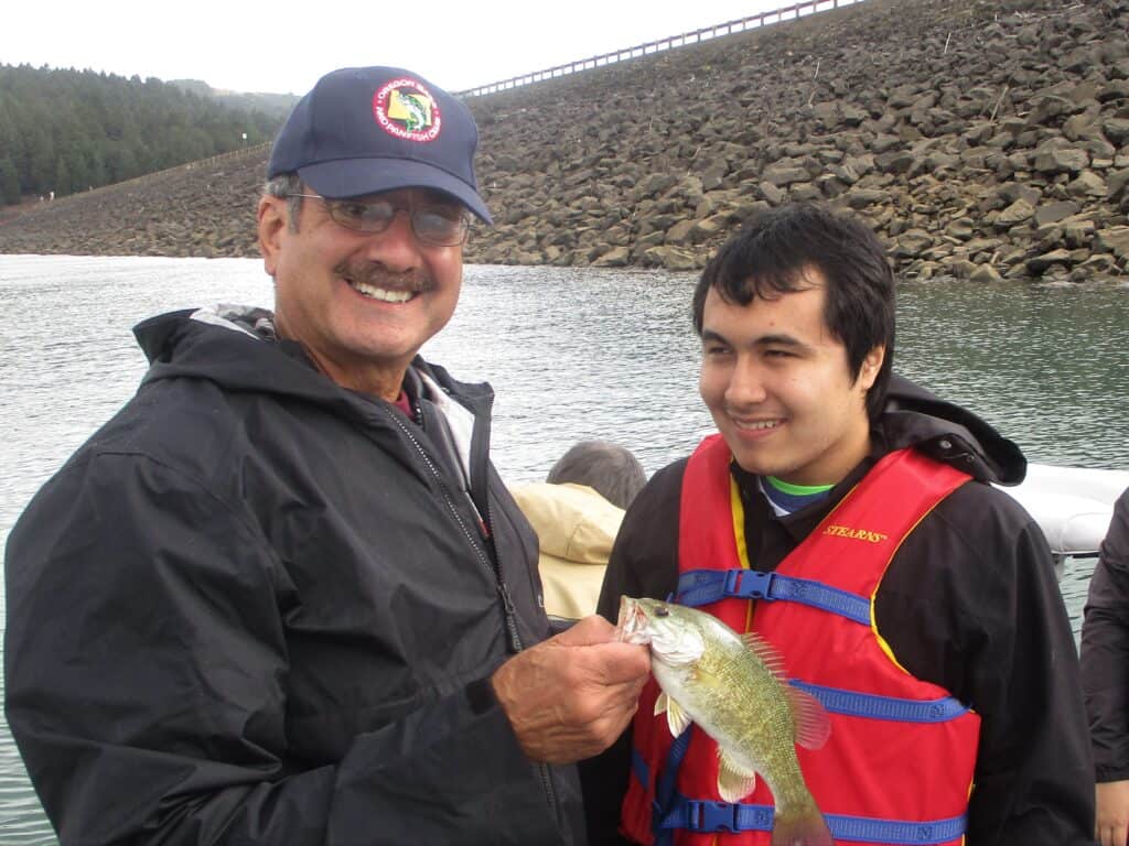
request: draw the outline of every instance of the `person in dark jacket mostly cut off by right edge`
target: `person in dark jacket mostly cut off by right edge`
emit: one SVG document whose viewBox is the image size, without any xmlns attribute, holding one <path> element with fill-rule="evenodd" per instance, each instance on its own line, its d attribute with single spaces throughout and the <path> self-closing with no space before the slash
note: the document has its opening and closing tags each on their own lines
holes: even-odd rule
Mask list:
<svg viewBox="0 0 1129 846">
<path fill-rule="evenodd" d="M 1094 743 L 1102 846 L 1129 840 L 1129 491 L 1113 503 L 1082 623 L 1082 684 Z"/>
</svg>

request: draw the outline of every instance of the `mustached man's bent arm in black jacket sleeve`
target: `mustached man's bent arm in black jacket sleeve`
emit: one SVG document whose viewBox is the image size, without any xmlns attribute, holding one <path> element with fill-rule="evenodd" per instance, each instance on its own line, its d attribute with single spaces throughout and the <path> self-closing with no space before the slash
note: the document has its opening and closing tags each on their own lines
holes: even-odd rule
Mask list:
<svg viewBox="0 0 1129 846">
<path fill-rule="evenodd" d="M 432 796 L 545 828 L 543 796 L 507 807 L 532 765 L 487 680 L 300 759 L 294 585 L 193 479 L 135 456 L 77 462 L 12 531 L 6 570 L 8 722 L 62 843 L 490 839 L 475 825 L 491 814 L 437 814 Z"/>
</svg>

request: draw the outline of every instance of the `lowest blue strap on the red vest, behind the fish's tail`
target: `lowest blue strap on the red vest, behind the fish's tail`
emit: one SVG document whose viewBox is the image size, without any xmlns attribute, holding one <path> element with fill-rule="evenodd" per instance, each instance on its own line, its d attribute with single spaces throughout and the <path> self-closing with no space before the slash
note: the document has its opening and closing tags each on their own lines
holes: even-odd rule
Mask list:
<svg viewBox="0 0 1129 846">
<path fill-rule="evenodd" d="M 878 820 L 825 813 L 823 819 L 835 841 L 883 843 L 898 846 L 948 843 L 959 839 L 968 828 L 968 817 L 964 814 L 944 820 L 918 821 Z M 665 831 L 680 828 L 697 832 L 771 831 L 773 820 L 772 805 L 699 801 L 676 794 L 671 810 L 664 814 L 658 826 Z"/>
</svg>

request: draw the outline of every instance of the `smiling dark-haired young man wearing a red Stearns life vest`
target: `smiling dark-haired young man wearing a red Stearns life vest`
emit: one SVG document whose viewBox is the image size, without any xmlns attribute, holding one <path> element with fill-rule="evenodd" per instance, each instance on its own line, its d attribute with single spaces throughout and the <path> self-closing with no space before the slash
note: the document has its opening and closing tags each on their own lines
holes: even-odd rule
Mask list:
<svg viewBox="0 0 1129 846">
<path fill-rule="evenodd" d="M 837 840 L 1089 843 L 1078 663 L 1050 554 L 987 484 L 1018 482 L 1025 462 L 891 379 L 894 279 L 874 235 L 820 208 L 770 212 L 707 266 L 693 315 L 720 434 L 636 499 L 601 613 L 673 594 L 779 651 L 830 713 L 828 743 L 798 754 Z M 625 787 L 632 841 L 768 844 L 771 793 L 759 782 L 723 802 L 715 746 L 694 726 L 673 742 L 656 694 L 585 767 L 593 839 L 616 841 Z"/>
</svg>

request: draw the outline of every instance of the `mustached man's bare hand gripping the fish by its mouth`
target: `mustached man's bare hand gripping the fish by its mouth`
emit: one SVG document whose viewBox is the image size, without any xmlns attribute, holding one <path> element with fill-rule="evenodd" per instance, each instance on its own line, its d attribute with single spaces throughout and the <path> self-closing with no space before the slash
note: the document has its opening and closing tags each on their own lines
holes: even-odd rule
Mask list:
<svg viewBox="0 0 1129 846">
<path fill-rule="evenodd" d="M 603 617 L 585 617 L 495 672 L 495 694 L 532 760 L 590 758 L 627 728 L 650 673 L 650 653 L 614 637 Z"/>
</svg>

